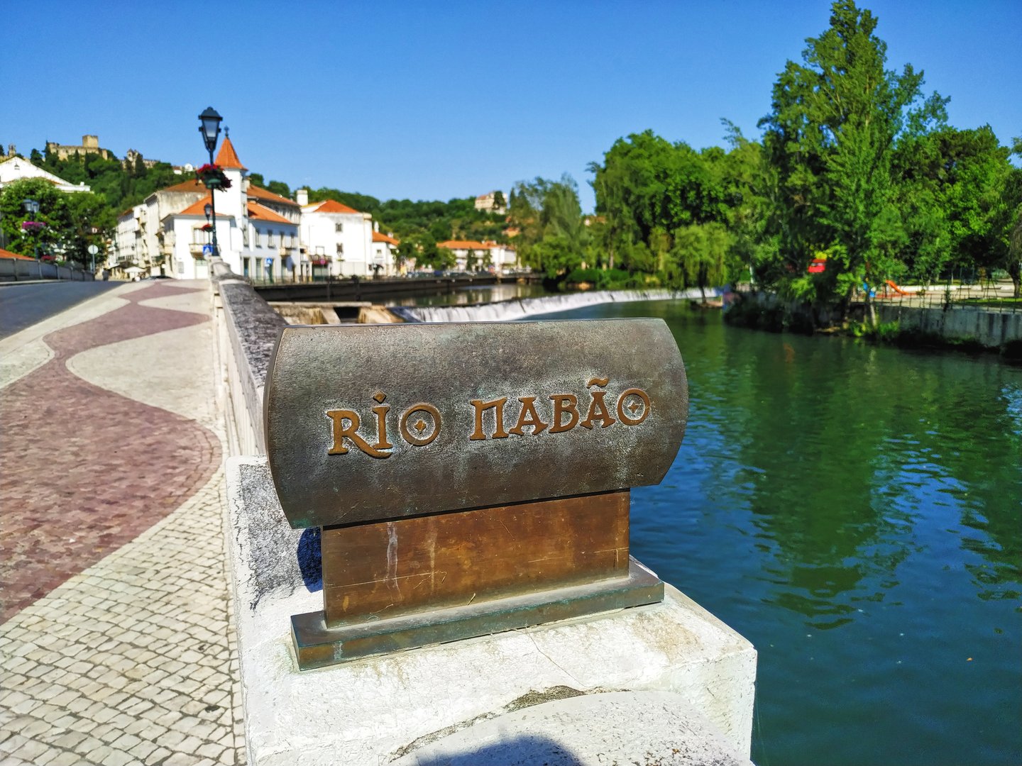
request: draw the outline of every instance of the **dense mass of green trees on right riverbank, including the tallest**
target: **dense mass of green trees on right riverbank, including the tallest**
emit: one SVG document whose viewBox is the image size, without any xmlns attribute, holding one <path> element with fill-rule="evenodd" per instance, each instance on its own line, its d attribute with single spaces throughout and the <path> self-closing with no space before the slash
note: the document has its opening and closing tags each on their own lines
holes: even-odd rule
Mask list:
<svg viewBox="0 0 1022 766">
<path fill-rule="evenodd" d="M 666 286 L 751 278 L 839 317 L 857 292 L 871 325 L 885 280 L 1003 269 L 1018 296 L 1022 171 L 1009 157 L 1022 142 L 949 126 L 922 71 L 886 68 L 876 29 L 869 10 L 835 2 L 776 81 L 760 141 L 729 125 L 727 150 L 650 131 L 615 142 L 591 167 L 590 265 Z"/>
</svg>

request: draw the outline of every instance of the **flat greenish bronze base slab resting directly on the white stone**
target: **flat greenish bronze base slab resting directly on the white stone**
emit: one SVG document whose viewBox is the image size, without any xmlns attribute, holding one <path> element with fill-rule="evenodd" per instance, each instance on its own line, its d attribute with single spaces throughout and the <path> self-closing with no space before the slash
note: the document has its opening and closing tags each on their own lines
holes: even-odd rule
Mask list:
<svg viewBox="0 0 1022 766">
<path fill-rule="evenodd" d="M 329 628 L 323 612 L 291 616 L 299 670 L 500 633 L 663 601 L 663 582 L 635 559 L 629 576 Z"/>
</svg>

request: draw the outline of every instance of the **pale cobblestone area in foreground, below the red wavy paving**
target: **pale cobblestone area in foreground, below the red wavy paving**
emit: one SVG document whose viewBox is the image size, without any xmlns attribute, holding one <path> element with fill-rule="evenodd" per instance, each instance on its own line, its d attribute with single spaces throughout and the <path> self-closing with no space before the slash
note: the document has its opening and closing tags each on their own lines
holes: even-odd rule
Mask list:
<svg viewBox="0 0 1022 766">
<path fill-rule="evenodd" d="M 0 625 L 0 762 L 244 763 L 222 485 Z"/>
</svg>

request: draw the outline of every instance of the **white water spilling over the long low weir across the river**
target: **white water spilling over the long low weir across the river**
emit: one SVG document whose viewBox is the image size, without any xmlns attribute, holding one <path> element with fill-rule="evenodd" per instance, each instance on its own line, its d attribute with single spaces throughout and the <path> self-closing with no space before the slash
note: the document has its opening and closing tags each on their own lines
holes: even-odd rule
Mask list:
<svg viewBox="0 0 1022 766">
<path fill-rule="evenodd" d="M 713 298 L 719 290 L 706 290 Z M 703 293 L 691 290 L 594 290 L 539 298 L 514 298 L 476 305 L 394 306 L 390 310 L 406 322 L 508 322 L 541 314 L 569 312 L 602 303 L 629 303 L 640 300 L 702 299 Z"/>
</svg>

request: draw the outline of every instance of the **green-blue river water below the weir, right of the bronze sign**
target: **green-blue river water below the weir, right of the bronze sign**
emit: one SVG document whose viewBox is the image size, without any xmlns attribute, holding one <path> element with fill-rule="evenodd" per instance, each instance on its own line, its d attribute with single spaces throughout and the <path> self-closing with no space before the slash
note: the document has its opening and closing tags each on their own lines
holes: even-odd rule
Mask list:
<svg viewBox="0 0 1022 766">
<path fill-rule="evenodd" d="M 1022 762 L 1022 369 L 661 317 L 691 412 L 632 552 L 759 653 L 753 760 Z"/>
</svg>

